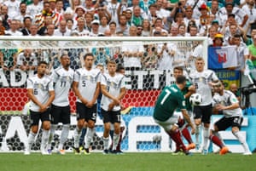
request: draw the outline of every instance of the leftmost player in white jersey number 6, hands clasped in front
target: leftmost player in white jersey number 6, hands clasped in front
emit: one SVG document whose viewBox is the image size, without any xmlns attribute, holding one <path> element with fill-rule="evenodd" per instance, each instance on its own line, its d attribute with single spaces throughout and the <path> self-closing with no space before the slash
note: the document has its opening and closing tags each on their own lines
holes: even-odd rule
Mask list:
<svg viewBox="0 0 256 171">
<path fill-rule="evenodd" d="M 49 111 L 52 101 L 55 99 L 53 82 L 45 74 L 47 63 L 40 61 L 38 63 L 38 73 L 33 77 L 27 78 L 27 96 L 31 100 L 29 107 L 32 125 L 28 134 L 28 140 L 24 154 L 30 154 L 32 144 L 38 133 L 39 120 L 42 121 L 43 134 L 41 140 L 41 152 L 43 155 L 49 154 L 46 151 L 47 141 L 49 139 Z"/>
</svg>

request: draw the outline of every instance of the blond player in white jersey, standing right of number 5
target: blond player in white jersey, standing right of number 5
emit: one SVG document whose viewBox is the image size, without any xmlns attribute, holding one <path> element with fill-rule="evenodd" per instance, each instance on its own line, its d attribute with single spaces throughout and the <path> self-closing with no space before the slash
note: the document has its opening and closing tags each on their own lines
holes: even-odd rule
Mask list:
<svg viewBox="0 0 256 171">
<path fill-rule="evenodd" d="M 121 105 L 120 102 L 125 96 L 124 75 L 116 72 L 115 61 L 108 61 L 108 73 L 102 74 L 102 116 L 104 123 L 103 132 L 103 154 L 108 154 L 108 141 L 111 123 L 113 124 L 113 147 L 112 153 L 117 154 L 116 147 L 119 143 Z"/>
</svg>

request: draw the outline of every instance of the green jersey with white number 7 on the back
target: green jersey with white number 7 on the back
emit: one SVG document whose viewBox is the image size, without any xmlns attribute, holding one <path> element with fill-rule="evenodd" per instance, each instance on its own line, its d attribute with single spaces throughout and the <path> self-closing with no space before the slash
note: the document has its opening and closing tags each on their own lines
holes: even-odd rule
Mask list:
<svg viewBox="0 0 256 171">
<path fill-rule="evenodd" d="M 186 109 L 183 93 L 176 84 L 166 86 L 160 93 L 154 106 L 154 119 L 166 121 L 177 109 Z"/>
</svg>

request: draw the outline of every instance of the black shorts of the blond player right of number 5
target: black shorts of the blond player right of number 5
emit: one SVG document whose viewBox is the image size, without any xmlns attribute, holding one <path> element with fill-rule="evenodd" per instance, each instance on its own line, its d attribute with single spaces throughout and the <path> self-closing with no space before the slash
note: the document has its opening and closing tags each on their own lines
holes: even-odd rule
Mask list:
<svg viewBox="0 0 256 171">
<path fill-rule="evenodd" d="M 121 123 L 120 111 L 104 111 L 102 109 L 103 123 Z"/>
</svg>

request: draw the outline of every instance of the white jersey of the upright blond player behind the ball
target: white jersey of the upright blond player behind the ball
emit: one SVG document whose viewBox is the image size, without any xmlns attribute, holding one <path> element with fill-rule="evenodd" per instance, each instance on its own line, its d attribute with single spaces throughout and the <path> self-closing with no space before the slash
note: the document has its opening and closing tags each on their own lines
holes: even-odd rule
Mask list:
<svg viewBox="0 0 256 171">
<path fill-rule="evenodd" d="M 195 85 L 196 93 L 201 94 L 202 102 L 200 105 L 212 104 L 212 87 L 209 83 L 215 80 L 218 80 L 218 77 L 211 70 L 193 71 L 189 75 L 189 81 Z"/>
</svg>

